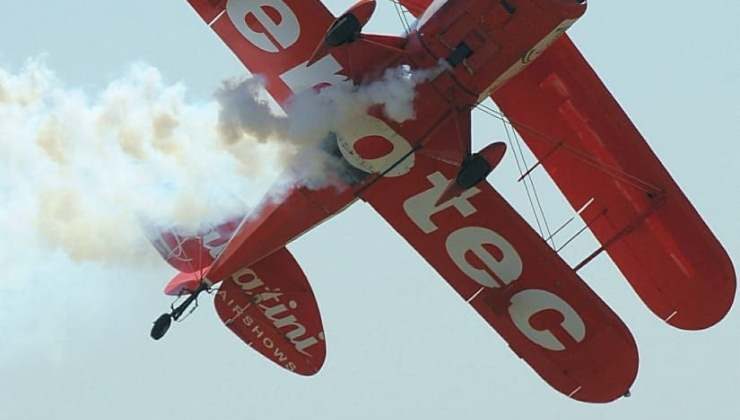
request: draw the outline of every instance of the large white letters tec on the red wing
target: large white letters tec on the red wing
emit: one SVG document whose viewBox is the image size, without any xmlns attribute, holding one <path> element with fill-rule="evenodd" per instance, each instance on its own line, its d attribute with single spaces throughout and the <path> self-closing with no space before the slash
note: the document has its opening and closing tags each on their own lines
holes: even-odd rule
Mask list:
<svg viewBox="0 0 740 420">
<path fill-rule="evenodd" d="M 477 188 L 471 188 L 437 206 L 435 203 L 450 180 L 440 172 L 430 174 L 427 179 L 432 187 L 409 197 L 403 204 L 406 215 L 420 231 L 425 234 L 437 231 L 439 227 L 432 222 L 432 216 L 443 210 L 455 209 L 463 219 L 477 212 L 471 201 L 471 198 L 480 193 Z M 524 270 L 524 261 L 516 248 L 504 236 L 489 228 L 461 226 L 448 235 L 445 245 L 447 254 L 457 268 L 486 288 L 506 287 L 518 280 Z M 496 255 L 490 251 L 491 248 L 496 250 Z M 468 253 L 474 254 L 486 269 L 474 267 L 466 258 Z M 576 343 L 586 337 L 586 325 L 581 316 L 565 300 L 552 292 L 539 289 L 523 290 L 512 296 L 508 311 L 517 329 L 531 342 L 545 349 L 566 350 L 567 341 L 570 340 L 563 340 L 563 334 Z M 532 325 L 533 317 L 545 311 L 557 312 L 562 317 L 560 334 Z"/>
</svg>

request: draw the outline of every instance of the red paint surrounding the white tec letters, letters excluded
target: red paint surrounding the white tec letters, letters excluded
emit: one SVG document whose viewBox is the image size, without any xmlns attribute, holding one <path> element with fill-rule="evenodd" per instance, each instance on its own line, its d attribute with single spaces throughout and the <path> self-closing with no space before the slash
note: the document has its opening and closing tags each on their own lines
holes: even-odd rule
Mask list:
<svg viewBox="0 0 740 420">
<path fill-rule="evenodd" d="M 454 178 L 456 170 L 453 165 L 417 155 L 410 173 L 398 179 L 378 181 L 363 193 L 362 198 L 437 270 L 460 297 L 466 301 L 472 298 L 470 305 L 473 309 L 553 388 L 565 395 L 577 390 L 572 398 L 579 401 L 607 402 L 621 397 L 634 381 L 638 367 L 637 348 L 629 330 L 488 183 L 481 183 L 477 187 L 479 192 L 467 199 L 471 206 L 469 210 L 474 210 L 467 216 L 458 207 L 443 205 L 431 218 L 419 219 L 427 221 L 426 231 L 410 216 L 415 214 L 415 207 L 423 206 L 413 197 L 432 188 L 430 177 L 436 176 L 444 187 Z M 437 194 L 431 194 L 429 199 L 435 200 L 441 191 L 439 188 Z M 460 202 L 457 205 L 464 208 Z M 507 252 L 519 254 L 521 274 L 508 285 L 498 288 L 482 287 L 471 279 L 453 261 L 448 249 L 448 244 L 453 241 L 451 238 L 465 238 L 466 230 L 493 231 L 505 238 L 515 250 Z M 471 240 L 473 248 L 477 242 Z M 485 253 L 469 251 L 465 256 L 472 267 L 486 271 L 501 286 L 503 276 L 491 271 L 479 257 L 488 253 L 503 261 L 501 248 L 498 250 L 498 253 L 488 249 Z M 585 325 L 582 341 L 574 341 L 562 329 L 560 314 L 555 313 L 555 319 L 548 320 L 546 311 L 537 311 L 529 323 L 535 329 L 552 331 L 565 344 L 565 349 L 551 351 L 523 335 L 513 325 L 509 310 L 512 297 L 528 290 L 553 293 L 572 306 Z M 539 319 L 543 316 L 545 319 Z M 545 327 L 542 324 L 537 326 L 538 319 Z"/>
</svg>

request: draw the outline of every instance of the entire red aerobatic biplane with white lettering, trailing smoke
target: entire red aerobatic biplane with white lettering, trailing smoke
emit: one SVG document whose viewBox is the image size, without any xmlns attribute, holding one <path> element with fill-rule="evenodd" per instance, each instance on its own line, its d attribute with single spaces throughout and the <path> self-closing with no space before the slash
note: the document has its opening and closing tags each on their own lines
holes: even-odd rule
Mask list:
<svg viewBox="0 0 740 420">
<path fill-rule="evenodd" d="M 620 318 L 579 277 L 607 253 L 668 324 L 700 330 L 735 296 L 726 252 L 565 34 L 585 0 L 400 0 L 418 19 L 404 37 L 363 33 L 362 0 L 334 17 L 320 0 L 189 0 L 290 115 L 307 89 L 361 85 L 386 69 L 444 64 L 416 87 L 413 120 L 368 112 L 328 138 L 343 188 L 294 187 L 243 220 L 154 242 L 187 300 L 161 338 L 217 283 L 226 326 L 302 375 L 326 345 L 311 287 L 286 245 L 355 200 L 368 202 L 538 375 L 580 401 L 628 393 L 638 353 Z M 569 266 L 486 182 L 506 150 L 471 150 L 471 110 L 491 97 L 600 247 Z M 328 133 L 327 133 L 328 134 Z M 346 173 L 352 173 L 348 177 Z"/>
</svg>

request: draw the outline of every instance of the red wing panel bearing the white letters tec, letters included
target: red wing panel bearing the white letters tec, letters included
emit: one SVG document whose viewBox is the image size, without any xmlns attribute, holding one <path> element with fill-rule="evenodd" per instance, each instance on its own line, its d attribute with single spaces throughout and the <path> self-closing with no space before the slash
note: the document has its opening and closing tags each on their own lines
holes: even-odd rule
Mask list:
<svg viewBox="0 0 740 420">
<path fill-rule="evenodd" d="M 416 153 L 408 173 L 362 198 L 554 388 L 581 401 L 622 396 L 638 365 L 627 327 L 488 183 L 435 207 L 456 170 Z"/>
</svg>

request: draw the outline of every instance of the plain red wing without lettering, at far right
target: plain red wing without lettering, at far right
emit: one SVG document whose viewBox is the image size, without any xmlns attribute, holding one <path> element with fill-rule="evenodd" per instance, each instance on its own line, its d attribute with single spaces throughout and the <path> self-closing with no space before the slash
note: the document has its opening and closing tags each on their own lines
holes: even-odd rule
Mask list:
<svg viewBox="0 0 740 420">
<path fill-rule="evenodd" d="M 567 36 L 493 99 L 573 207 L 594 200 L 584 220 L 653 312 L 684 329 L 725 316 L 727 253 Z"/>
</svg>

